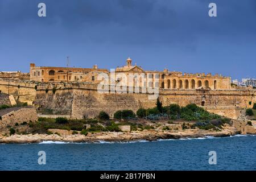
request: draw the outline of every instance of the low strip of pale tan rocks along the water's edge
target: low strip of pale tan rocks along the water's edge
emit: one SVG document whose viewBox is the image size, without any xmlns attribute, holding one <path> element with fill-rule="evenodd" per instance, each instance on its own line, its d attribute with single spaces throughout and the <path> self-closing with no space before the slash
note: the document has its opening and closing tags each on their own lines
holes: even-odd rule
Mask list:
<svg viewBox="0 0 256 182">
<path fill-rule="evenodd" d="M 232 135 L 240 134 L 237 130 L 222 130 L 222 131 L 210 131 L 210 130 L 181 130 L 181 131 L 156 131 L 156 130 L 144 130 L 133 131 L 130 133 L 122 132 L 102 132 L 92 134 L 90 137 L 75 134 L 75 135 L 57 135 L 57 134 L 27 134 L 27 135 L 11 135 L 9 137 L 0 137 L 0 143 L 40 143 L 46 141 L 52 142 L 70 142 L 70 143 L 98 143 L 104 142 L 133 142 L 137 140 L 154 141 L 158 139 L 182 139 L 182 138 L 203 138 L 203 137 L 229 137 Z"/>
</svg>

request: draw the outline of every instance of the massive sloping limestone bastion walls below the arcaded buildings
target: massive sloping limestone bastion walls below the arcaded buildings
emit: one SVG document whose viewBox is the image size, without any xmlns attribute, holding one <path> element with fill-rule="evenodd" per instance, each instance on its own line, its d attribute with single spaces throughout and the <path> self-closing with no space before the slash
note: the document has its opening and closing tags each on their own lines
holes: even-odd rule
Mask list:
<svg viewBox="0 0 256 182">
<path fill-rule="evenodd" d="M 10 85 L 11 94 L 31 104 L 34 101 L 39 113 L 52 110 L 48 114 L 71 115 L 72 118 L 94 118 L 101 110 L 113 116 L 117 110 L 135 112 L 139 107 L 155 107 L 156 103 L 148 99 L 148 93 L 99 93 L 97 84 L 87 82 L 44 84 L 38 85 L 37 90 L 36 83 L 32 82 L 11 82 Z M 6 92 L 6 81 L 0 80 L 1 89 Z M 159 98 L 163 106 L 204 103 L 210 112 L 236 119 L 242 108 L 250 108 L 256 102 L 256 90 L 160 89 Z"/>
</svg>

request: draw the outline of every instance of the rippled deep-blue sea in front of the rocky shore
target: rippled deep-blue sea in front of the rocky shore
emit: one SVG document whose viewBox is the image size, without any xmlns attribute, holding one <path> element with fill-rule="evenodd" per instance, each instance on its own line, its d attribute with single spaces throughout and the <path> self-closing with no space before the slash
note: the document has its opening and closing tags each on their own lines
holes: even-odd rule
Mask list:
<svg viewBox="0 0 256 182">
<path fill-rule="evenodd" d="M 39 151 L 46 152 L 46 165 L 38 164 Z M 216 151 L 216 165 L 209 164 L 209 151 Z M 0 170 L 256 170 L 256 136 L 0 144 Z"/>
</svg>

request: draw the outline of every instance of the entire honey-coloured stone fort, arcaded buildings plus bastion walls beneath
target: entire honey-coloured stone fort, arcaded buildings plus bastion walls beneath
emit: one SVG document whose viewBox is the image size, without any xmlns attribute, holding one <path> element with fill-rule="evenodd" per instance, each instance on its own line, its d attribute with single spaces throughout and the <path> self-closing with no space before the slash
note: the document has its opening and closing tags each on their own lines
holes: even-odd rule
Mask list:
<svg viewBox="0 0 256 182">
<path fill-rule="evenodd" d="M 168 69 L 145 71 L 133 65 L 130 58 L 126 60 L 126 65 L 114 71 L 115 84 L 123 81 L 118 80 L 119 73 L 124 74 L 126 79 L 131 73 L 135 76 L 128 83 L 159 88 L 159 100 L 163 106 L 195 103 L 211 113 L 236 119 L 242 110 L 253 107 L 252 103 L 256 102 L 256 89 L 232 87 L 230 77 L 220 74 L 192 74 Z M 110 76 L 112 71 L 98 69 L 96 65 L 93 68 L 65 68 L 36 67 L 31 64 L 30 80 L 2 77 L 0 90 L 13 95 L 16 101 L 34 105 L 39 114 L 51 111 L 50 114 L 69 115 L 71 118 L 94 118 L 101 110 L 111 117 L 117 110 L 131 109 L 136 112 L 141 107 L 155 107 L 156 100 L 148 99 L 151 94 L 148 91 L 99 93 L 97 86 L 100 80 L 97 78 L 101 73 Z M 144 77 L 148 85 L 145 85 Z"/>
</svg>

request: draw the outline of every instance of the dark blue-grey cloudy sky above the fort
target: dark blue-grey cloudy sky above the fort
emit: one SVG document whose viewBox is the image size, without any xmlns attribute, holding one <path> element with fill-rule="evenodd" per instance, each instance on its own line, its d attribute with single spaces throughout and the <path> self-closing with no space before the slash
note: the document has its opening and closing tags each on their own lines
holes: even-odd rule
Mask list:
<svg viewBox="0 0 256 182">
<path fill-rule="evenodd" d="M 256 1 L 0 0 L 0 71 L 66 67 L 67 56 L 70 67 L 131 57 L 144 70 L 256 77 Z"/>
</svg>

